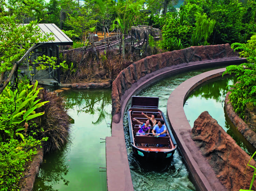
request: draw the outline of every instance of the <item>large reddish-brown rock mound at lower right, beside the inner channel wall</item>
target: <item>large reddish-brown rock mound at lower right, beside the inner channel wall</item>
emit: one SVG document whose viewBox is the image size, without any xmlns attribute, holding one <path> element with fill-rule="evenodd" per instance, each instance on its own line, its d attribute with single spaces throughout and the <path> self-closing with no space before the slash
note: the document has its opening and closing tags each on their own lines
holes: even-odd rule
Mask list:
<svg viewBox="0 0 256 191">
<path fill-rule="evenodd" d="M 202 112 L 194 122 L 191 138 L 227 190 L 238 191 L 250 188 L 254 170 L 248 167 L 245 171 L 250 156 L 236 144 L 207 111 Z M 250 164 L 256 166 L 254 160 Z M 253 190 L 256 188 L 255 184 Z"/>
</svg>

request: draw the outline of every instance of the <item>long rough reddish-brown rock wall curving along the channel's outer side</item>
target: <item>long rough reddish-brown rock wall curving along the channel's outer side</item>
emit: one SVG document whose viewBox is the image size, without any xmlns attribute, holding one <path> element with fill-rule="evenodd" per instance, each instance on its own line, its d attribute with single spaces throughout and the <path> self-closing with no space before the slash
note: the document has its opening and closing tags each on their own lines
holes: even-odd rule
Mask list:
<svg viewBox="0 0 256 191">
<path fill-rule="evenodd" d="M 183 63 L 211 60 L 224 57 L 237 57 L 238 54 L 229 44 L 189 47 L 162 54 L 148 56 L 141 59 L 122 72 L 112 84 L 112 116 L 114 122 L 120 120 L 120 101 L 124 92 L 146 74 L 164 67 L 180 65 Z"/>
</svg>

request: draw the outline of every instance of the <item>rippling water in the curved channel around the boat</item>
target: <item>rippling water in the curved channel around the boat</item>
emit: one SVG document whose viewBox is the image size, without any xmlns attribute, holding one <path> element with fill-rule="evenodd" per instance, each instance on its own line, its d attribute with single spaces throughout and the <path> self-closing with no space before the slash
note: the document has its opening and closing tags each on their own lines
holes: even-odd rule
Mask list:
<svg viewBox="0 0 256 191">
<path fill-rule="evenodd" d="M 142 89 L 137 95 L 159 97 L 159 109 L 166 114 L 167 101 L 171 92 L 177 86 L 188 80 L 190 77 L 213 69 L 217 68 L 193 70 L 170 76 L 161 81 L 156 81 L 152 85 Z M 179 153 L 179 149 L 175 151 L 173 160 L 168 165 L 162 165 L 157 162 L 154 164 L 144 164 L 143 162 L 138 162 L 137 159 L 134 158 L 131 151 L 129 127 L 126 117 L 127 115 L 124 116 L 124 131 L 134 190 L 194 191 L 195 186 L 189 179 L 189 174 L 183 162 L 183 158 Z"/>
</svg>

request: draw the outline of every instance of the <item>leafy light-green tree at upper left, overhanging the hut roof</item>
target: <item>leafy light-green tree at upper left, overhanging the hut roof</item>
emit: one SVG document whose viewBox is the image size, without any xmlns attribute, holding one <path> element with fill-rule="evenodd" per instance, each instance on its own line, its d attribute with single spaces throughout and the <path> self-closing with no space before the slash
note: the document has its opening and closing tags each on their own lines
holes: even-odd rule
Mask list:
<svg viewBox="0 0 256 191">
<path fill-rule="evenodd" d="M 42 37 L 36 20 L 26 25 L 19 24 L 16 15 L 9 15 L 5 11 L 4 0 L 0 0 L 0 29 L 1 94 L 13 75 L 17 76 L 17 69 L 37 44 L 53 40 L 53 37 L 50 35 Z M 51 64 L 55 65 L 55 63 Z M 43 67 L 43 65 L 41 66 Z M 9 74 L 9 76 L 3 83 L 5 74 Z"/>
</svg>

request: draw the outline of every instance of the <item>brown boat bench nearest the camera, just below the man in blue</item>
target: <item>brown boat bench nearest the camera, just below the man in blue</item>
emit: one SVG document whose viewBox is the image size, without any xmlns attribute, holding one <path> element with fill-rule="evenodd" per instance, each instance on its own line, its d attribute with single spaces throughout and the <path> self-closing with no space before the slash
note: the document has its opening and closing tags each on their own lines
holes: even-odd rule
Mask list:
<svg viewBox="0 0 256 191">
<path fill-rule="evenodd" d="M 165 144 L 170 145 L 169 137 L 134 136 L 134 143 L 141 144 Z"/>
</svg>

